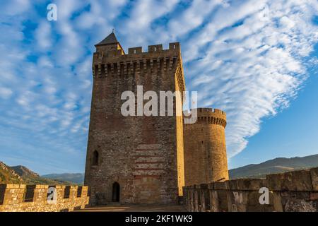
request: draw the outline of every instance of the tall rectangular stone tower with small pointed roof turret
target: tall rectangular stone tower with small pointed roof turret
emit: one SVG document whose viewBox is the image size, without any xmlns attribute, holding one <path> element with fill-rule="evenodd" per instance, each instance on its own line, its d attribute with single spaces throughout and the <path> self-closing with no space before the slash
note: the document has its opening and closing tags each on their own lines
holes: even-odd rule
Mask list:
<svg viewBox="0 0 318 226">
<path fill-rule="evenodd" d="M 142 85 L 143 93 L 158 94 L 159 108 L 160 91 L 184 91 L 179 43 L 125 54 L 111 33 L 95 47 L 85 173 L 91 204 L 177 203 L 184 186 L 182 116 L 124 117 L 121 95 L 137 97 Z"/>
</svg>

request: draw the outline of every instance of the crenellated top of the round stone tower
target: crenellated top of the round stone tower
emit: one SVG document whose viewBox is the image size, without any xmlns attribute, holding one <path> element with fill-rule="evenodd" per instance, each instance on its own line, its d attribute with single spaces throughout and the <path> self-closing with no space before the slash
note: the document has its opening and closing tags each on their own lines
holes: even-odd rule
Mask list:
<svg viewBox="0 0 318 226">
<path fill-rule="evenodd" d="M 196 124 L 216 124 L 223 126 L 225 128 L 226 126 L 226 113 L 223 112 L 220 109 L 215 108 L 204 108 L 200 107 L 196 109 L 197 111 L 197 121 Z M 184 112 L 184 115 L 189 114 L 187 111 Z M 191 117 L 191 116 L 189 116 Z M 184 118 L 188 118 L 185 116 Z M 186 126 L 189 126 L 191 124 L 184 124 Z"/>
</svg>

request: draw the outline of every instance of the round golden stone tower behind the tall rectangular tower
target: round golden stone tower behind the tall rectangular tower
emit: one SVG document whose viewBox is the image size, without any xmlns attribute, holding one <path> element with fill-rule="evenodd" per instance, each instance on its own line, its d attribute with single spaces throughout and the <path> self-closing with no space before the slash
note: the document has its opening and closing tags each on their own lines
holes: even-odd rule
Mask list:
<svg viewBox="0 0 318 226">
<path fill-rule="evenodd" d="M 186 186 L 228 180 L 225 126 L 225 112 L 211 108 L 198 108 L 196 122 L 184 124 Z"/>
</svg>

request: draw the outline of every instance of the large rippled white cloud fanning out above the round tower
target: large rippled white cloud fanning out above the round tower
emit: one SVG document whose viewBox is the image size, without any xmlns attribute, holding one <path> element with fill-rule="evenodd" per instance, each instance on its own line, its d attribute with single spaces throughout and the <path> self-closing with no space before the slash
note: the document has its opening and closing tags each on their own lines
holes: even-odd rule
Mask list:
<svg viewBox="0 0 318 226">
<path fill-rule="evenodd" d="M 265 4 L 269 14 L 263 18 Z M 237 13 L 229 6 L 228 18 L 221 18 L 225 15 L 221 9 L 222 13 L 217 12 L 211 23 L 192 37 L 198 42 L 189 42 L 192 47 L 186 49 L 185 61 L 191 64 L 188 76 L 193 78 L 188 88 L 201 90 L 204 105 L 228 113 L 230 157 L 246 147 L 247 139 L 259 131 L 261 119 L 288 107 L 290 97 L 307 78 L 301 57 L 317 42 L 317 27 L 310 23 L 312 4 L 294 2 L 286 8 L 271 1 L 257 6 L 247 1 Z M 203 59 L 196 60 L 198 57 Z"/>
</svg>

